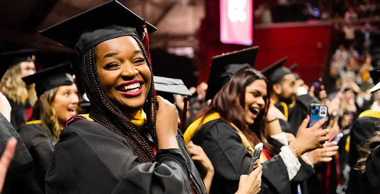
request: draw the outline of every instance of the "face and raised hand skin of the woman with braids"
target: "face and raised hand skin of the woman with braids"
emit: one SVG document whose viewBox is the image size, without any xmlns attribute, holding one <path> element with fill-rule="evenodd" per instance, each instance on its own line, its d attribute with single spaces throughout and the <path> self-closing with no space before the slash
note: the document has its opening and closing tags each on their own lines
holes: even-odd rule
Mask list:
<svg viewBox="0 0 380 194">
<path fill-rule="evenodd" d="M 124 36 L 106 40 L 95 47 L 96 70 L 100 85 L 110 100 L 127 116 L 133 118 L 144 106 L 151 87 L 151 71 L 133 37 Z M 141 81 L 142 92 L 134 97 L 120 93 L 120 86 L 129 81 Z M 175 105 L 156 97 L 156 135 L 159 149 L 178 149 Z"/>
</svg>

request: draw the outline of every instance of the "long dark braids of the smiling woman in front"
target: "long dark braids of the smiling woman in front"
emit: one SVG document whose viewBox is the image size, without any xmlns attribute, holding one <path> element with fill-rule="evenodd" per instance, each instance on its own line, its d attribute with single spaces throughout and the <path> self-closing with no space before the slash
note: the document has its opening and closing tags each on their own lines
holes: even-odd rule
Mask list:
<svg viewBox="0 0 380 194">
<path fill-rule="evenodd" d="M 96 70 L 95 46 L 86 51 L 81 58 L 80 72 L 83 78 L 84 88 L 91 103 L 90 117 L 94 121 L 105 126 L 110 131 L 123 137 L 131 146 L 133 154 L 138 157 L 139 163 L 154 162 L 155 155 L 146 138 L 149 133 L 155 146 L 158 145 L 155 133 L 156 100 L 154 95 L 154 82 L 152 65 L 149 61 L 144 45 L 136 37 L 131 36 L 139 44 L 144 58 L 151 71 L 151 86 L 143 110 L 147 113 L 147 124 L 137 126 L 121 112 L 121 110 L 106 96 L 100 86 L 99 76 Z"/>
</svg>

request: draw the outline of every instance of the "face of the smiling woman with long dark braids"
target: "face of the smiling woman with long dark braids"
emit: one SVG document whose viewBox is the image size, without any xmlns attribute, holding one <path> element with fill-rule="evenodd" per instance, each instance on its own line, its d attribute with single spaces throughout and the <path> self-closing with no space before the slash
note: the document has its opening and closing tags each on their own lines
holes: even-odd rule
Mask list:
<svg viewBox="0 0 380 194">
<path fill-rule="evenodd" d="M 133 37 L 125 36 L 101 42 L 95 47 L 96 69 L 104 93 L 128 118 L 133 118 L 148 96 L 151 72 L 144 55 Z M 142 93 L 136 97 L 121 94 L 124 82 L 142 81 Z"/>
</svg>

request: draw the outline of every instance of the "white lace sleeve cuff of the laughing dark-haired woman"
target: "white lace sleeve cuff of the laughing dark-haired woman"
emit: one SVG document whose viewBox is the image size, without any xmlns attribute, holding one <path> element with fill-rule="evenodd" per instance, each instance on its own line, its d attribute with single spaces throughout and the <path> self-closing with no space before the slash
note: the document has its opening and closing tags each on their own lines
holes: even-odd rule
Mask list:
<svg viewBox="0 0 380 194">
<path fill-rule="evenodd" d="M 281 147 L 280 156 L 283 158 L 283 161 L 285 163 L 287 174 L 289 175 L 289 180 L 292 180 L 300 170 L 301 163 L 287 146 Z"/>
</svg>

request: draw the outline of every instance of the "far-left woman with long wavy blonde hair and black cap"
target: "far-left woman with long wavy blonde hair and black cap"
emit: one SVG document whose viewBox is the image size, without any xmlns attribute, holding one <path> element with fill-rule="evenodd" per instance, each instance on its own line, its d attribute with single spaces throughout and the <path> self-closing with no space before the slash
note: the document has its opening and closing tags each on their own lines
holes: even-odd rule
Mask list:
<svg viewBox="0 0 380 194">
<path fill-rule="evenodd" d="M 15 129 L 21 126 L 30 116 L 27 109 L 37 100 L 33 85 L 25 85 L 21 78 L 36 72 L 35 64 L 30 57 L 34 49 L 24 49 L 0 54 L 0 64 L 8 69 L 0 81 L 0 92 L 3 93 L 12 107 L 11 124 Z"/>
</svg>

